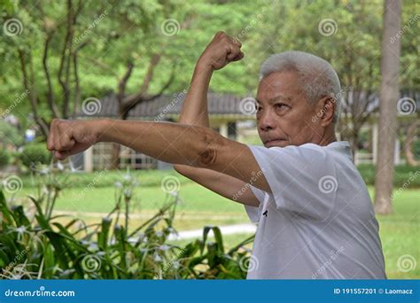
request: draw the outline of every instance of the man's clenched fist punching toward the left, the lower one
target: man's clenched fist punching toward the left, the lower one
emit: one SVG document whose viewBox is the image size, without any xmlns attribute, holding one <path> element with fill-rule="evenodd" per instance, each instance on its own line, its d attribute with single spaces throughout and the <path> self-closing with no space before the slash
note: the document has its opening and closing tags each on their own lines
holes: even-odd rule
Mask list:
<svg viewBox="0 0 420 303">
<path fill-rule="evenodd" d="M 98 127 L 101 120 L 62 120 L 51 121 L 47 148 L 55 151 L 57 159 L 85 151 L 98 141 Z"/>
</svg>

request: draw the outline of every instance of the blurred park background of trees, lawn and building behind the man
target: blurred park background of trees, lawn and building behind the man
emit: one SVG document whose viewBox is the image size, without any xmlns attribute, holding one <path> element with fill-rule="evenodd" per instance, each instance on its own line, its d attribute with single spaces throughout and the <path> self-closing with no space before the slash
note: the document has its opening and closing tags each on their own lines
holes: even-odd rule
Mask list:
<svg viewBox="0 0 420 303">
<path fill-rule="evenodd" d="M 261 63 L 290 50 L 331 62 L 342 85 L 338 140 L 350 143 L 375 203 L 388 277 L 420 277 L 416 0 L 404 1 L 401 11 L 378 0 L 0 5 L 0 177 L 8 204 L 30 209 L 28 195 L 43 189 L 34 172 L 56 167 L 66 171 L 67 186 L 53 210 L 63 224 L 74 217 L 100 221 L 115 208 L 116 190 L 127 190 L 124 180 L 133 178 L 136 190 L 125 196 L 131 201 L 128 229 L 152 218 L 176 192 L 182 200 L 174 221 L 178 236 L 169 243 L 201 237 L 205 225 L 221 227 L 230 247 L 252 236 L 255 227 L 243 206 L 167 163 L 105 143 L 57 163 L 45 148 L 53 118 L 177 121 L 195 63 L 222 30 L 243 44 L 245 58 L 214 73 L 211 127 L 261 144 L 253 110 Z"/>
</svg>

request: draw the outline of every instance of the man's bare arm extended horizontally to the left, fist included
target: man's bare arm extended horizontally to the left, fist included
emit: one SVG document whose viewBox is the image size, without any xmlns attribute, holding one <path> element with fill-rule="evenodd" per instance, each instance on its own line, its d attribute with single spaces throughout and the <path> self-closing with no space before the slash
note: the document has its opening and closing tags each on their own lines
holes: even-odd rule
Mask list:
<svg viewBox="0 0 420 303">
<path fill-rule="evenodd" d="M 58 159 L 66 159 L 97 142 L 122 144 L 155 159 L 211 169 L 245 183 L 261 171 L 245 144 L 211 128 L 172 122 L 54 119 L 47 147 Z M 264 175 L 253 185 L 270 191 Z"/>
</svg>

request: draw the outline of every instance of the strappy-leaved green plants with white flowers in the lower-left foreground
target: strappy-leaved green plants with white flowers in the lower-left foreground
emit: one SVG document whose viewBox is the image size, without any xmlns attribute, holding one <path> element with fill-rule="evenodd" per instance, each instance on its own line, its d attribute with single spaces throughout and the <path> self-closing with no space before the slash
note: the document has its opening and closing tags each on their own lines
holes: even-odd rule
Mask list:
<svg viewBox="0 0 420 303">
<path fill-rule="evenodd" d="M 53 215 L 58 193 L 66 186 L 60 169 L 33 167 L 42 181 L 29 196 L 35 214 L 11 206 L 0 190 L 0 277 L 6 279 L 244 279 L 253 237 L 227 250 L 217 227 L 206 227 L 203 238 L 183 247 L 167 243 L 173 234 L 175 192 L 159 212 L 128 230 L 129 207 L 136 178 L 125 175 L 116 188 L 116 205 L 102 221 Z M 210 230 L 214 242 L 207 241 Z"/>
</svg>

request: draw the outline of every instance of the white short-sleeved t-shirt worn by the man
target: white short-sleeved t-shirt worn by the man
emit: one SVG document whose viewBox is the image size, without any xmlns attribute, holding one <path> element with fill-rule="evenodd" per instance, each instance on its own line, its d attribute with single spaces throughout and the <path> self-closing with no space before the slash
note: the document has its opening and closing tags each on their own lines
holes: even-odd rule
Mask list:
<svg viewBox="0 0 420 303">
<path fill-rule="evenodd" d="M 251 186 L 260 206 L 245 206 L 258 223 L 247 279 L 386 278 L 372 202 L 347 142 L 248 146 L 272 193 Z"/>
</svg>

